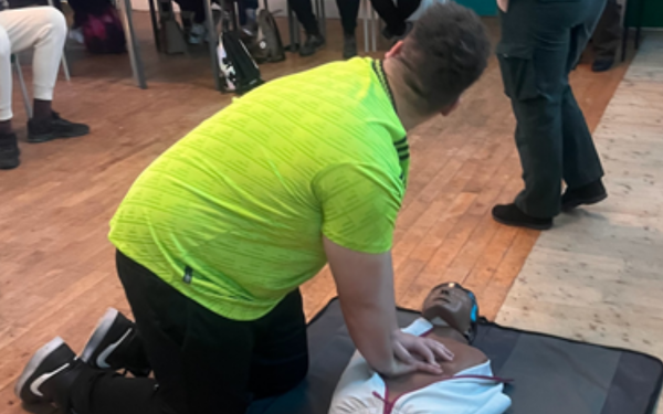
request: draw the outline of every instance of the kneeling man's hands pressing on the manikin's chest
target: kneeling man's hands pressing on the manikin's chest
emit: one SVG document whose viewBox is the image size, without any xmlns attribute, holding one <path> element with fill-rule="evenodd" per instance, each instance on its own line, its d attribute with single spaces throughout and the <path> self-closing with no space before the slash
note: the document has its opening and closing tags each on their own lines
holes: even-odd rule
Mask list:
<svg viewBox="0 0 663 414">
<path fill-rule="evenodd" d="M 435 340 L 415 337 L 400 330 L 393 332 L 392 343 L 397 361 L 392 372 L 382 372 L 386 376 L 398 376 L 415 371 L 439 375 L 442 369 L 436 361 L 451 361 L 454 357 L 446 347 Z"/>
</svg>

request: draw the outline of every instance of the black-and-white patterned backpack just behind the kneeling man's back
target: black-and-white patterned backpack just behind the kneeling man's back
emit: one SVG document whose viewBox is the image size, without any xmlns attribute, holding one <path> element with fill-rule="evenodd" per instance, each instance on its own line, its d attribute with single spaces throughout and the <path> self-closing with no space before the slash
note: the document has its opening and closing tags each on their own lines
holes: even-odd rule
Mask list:
<svg viewBox="0 0 663 414">
<path fill-rule="evenodd" d="M 264 83 L 260 77 L 260 68 L 238 32 L 224 30 L 217 53 L 225 82 L 223 92 L 235 92 L 241 95 Z"/>
</svg>

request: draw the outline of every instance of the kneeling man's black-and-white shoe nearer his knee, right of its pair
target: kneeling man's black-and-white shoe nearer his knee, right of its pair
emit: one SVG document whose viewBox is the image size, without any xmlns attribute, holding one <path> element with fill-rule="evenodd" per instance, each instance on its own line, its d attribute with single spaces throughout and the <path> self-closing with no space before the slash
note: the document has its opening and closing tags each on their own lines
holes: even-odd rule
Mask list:
<svg viewBox="0 0 663 414">
<path fill-rule="evenodd" d="M 143 355 L 141 346 L 137 346 L 136 341 L 139 341 L 136 325 L 117 309 L 110 308 L 97 322 L 81 353 L 81 360 L 92 368 L 114 371 L 126 369 L 135 376 L 147 376 L 151 370 Z M 136 352 L 140 354 L 134 355 Z"/>
</svg>

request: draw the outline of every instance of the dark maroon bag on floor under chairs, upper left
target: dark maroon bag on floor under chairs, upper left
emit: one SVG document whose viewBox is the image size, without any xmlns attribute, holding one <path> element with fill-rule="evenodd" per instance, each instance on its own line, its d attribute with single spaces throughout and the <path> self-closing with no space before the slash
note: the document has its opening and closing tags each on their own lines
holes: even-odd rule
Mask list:
<svg viewBox="0 0 663 414">
<path fill-rule="evenodd" d="M 90 53 L 126 52 L 124 29 L 113 7 L 105 8 L 99 14 L 87 13 L 81 29 Z"/>
</svg>

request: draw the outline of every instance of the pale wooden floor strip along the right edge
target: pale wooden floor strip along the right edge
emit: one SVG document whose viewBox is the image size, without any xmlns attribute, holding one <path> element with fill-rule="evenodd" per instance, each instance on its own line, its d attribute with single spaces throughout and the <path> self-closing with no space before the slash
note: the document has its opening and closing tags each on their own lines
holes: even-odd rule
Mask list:
<svg viewBox="0 0 663 414">
<path fill-rule="evenodd" d="M 610 197 L 541 235 L 498 322 L 663 359 L 663 33 L 646 34 L 596 141 Z"/>
</svg>

